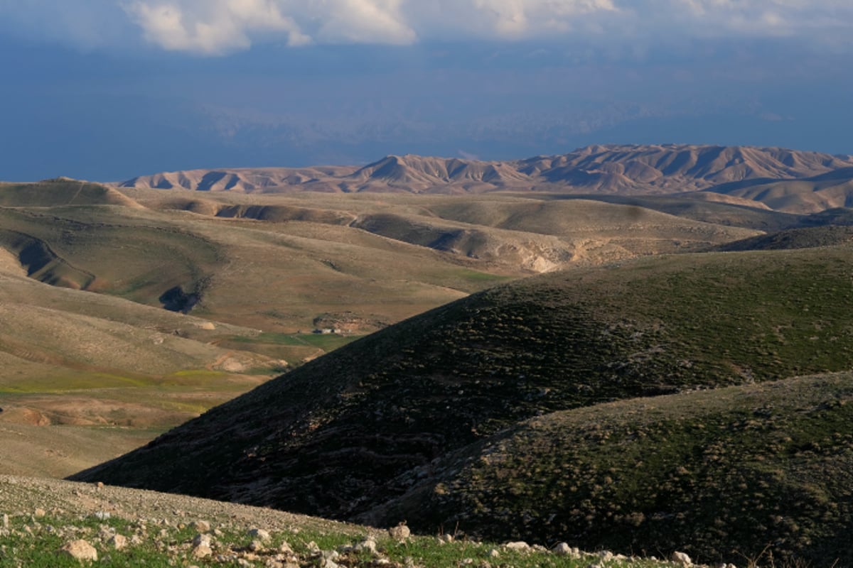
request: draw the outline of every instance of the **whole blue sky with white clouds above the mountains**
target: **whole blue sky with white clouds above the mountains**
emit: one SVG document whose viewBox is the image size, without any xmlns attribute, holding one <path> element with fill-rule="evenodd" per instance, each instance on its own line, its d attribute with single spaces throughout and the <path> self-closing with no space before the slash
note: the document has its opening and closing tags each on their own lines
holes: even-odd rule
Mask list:
<svg viewBox="0 0 853 568">
<path fill-rule="evenodd" d="M 853 154 L 850 0 L 0 0 L 0 180 Z"/>
</svg>

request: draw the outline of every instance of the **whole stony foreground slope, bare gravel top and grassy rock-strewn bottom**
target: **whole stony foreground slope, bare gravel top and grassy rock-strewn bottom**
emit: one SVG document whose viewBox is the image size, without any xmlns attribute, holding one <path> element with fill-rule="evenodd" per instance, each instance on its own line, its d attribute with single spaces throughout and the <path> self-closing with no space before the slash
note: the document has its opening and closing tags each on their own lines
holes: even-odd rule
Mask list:
<svg viewBox="0 0 853 568">
<path fill-rule="evenodd" d="M 489 544 L 452 535 L 413 536 L 266 508 L 102 484 L 0 476 L 0 566 L 618 567 L 691 565 Z"/>
</svg>

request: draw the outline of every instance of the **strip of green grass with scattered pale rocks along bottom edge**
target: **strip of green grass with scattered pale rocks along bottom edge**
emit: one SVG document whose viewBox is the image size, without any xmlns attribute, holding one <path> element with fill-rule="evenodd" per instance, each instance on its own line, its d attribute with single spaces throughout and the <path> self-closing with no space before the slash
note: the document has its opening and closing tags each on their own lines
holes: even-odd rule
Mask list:
<svg viewBox="0 0 853 568">
<path fill-rule="evenodd" d="M 96 548 L 97 565 L 110 567 L 330 565 L 324 564 L 325 557 L 333 559 L 335 565 L 351 568 L 376 565 L 581 568 L 595 559 L 593 555 L 579 559 L 557 556 L 544 550 L 515 551 L 483 542 L 440 542 L 429 536 L 405 541 L 380 536 L 374 541 L 376 552 L 353 550 L 359 542 L 364 542 L 367 530 L 359 535 L 352 530 L 345 533 L 299 527 L 273 532 L 270 540 L 260 542 L 262 546 L 258 548 L 252 544 L 258 538 L 249 534 L 250 527 L 235 524 L 213 524 L 212 554 L 199 558 L 194 555 L 193 540 L 199 531 L 194 528 L 193 520 L 177 523 L 165 519 L 100 519 L 96 515 L 53 514 L 41 518 L 16 515 L 9 519 L 9 529 L 0 527 L 0 567 L 77 567 L 81 561 L 60 550 L 67 542 L 81 539 Z M 126 539 L 120 548 L 116 547 L 115 535 Z M 641 559 L 612 559 L 605 564 L 612 568 L 665 565 Z"/>
</svg>

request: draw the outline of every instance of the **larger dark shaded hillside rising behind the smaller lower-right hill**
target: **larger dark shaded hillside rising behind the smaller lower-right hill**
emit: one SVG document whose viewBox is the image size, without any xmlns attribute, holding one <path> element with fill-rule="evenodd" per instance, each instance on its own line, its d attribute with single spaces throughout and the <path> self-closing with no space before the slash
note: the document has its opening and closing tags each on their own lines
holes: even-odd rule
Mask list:
<svg viewBox="0 0 853 568">
<path fill-rule="evenodd" d="M 850 369 L 851 260 L 849 247 L 677 255 L 502 285 L 75 479 L 356 518 L 532 416 Z"/>
</svg>

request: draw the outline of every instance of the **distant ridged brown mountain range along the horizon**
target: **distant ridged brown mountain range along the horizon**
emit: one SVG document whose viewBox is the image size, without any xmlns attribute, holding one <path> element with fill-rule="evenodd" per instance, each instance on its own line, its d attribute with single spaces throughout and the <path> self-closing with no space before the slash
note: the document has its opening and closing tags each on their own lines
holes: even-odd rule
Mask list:
<svg viewBox="0 0 853 568">
<path fill-rule="evenodd" d="M 194 169 L 117 185 L 243 193 L 705 192 L 715 194 L 701 196 L 708 200 L 806 213 L 848 204 L 853 158 L 749 146 L 588 146 L 505 162 L 406 155 L 363 167 Z"/>
</svg>

